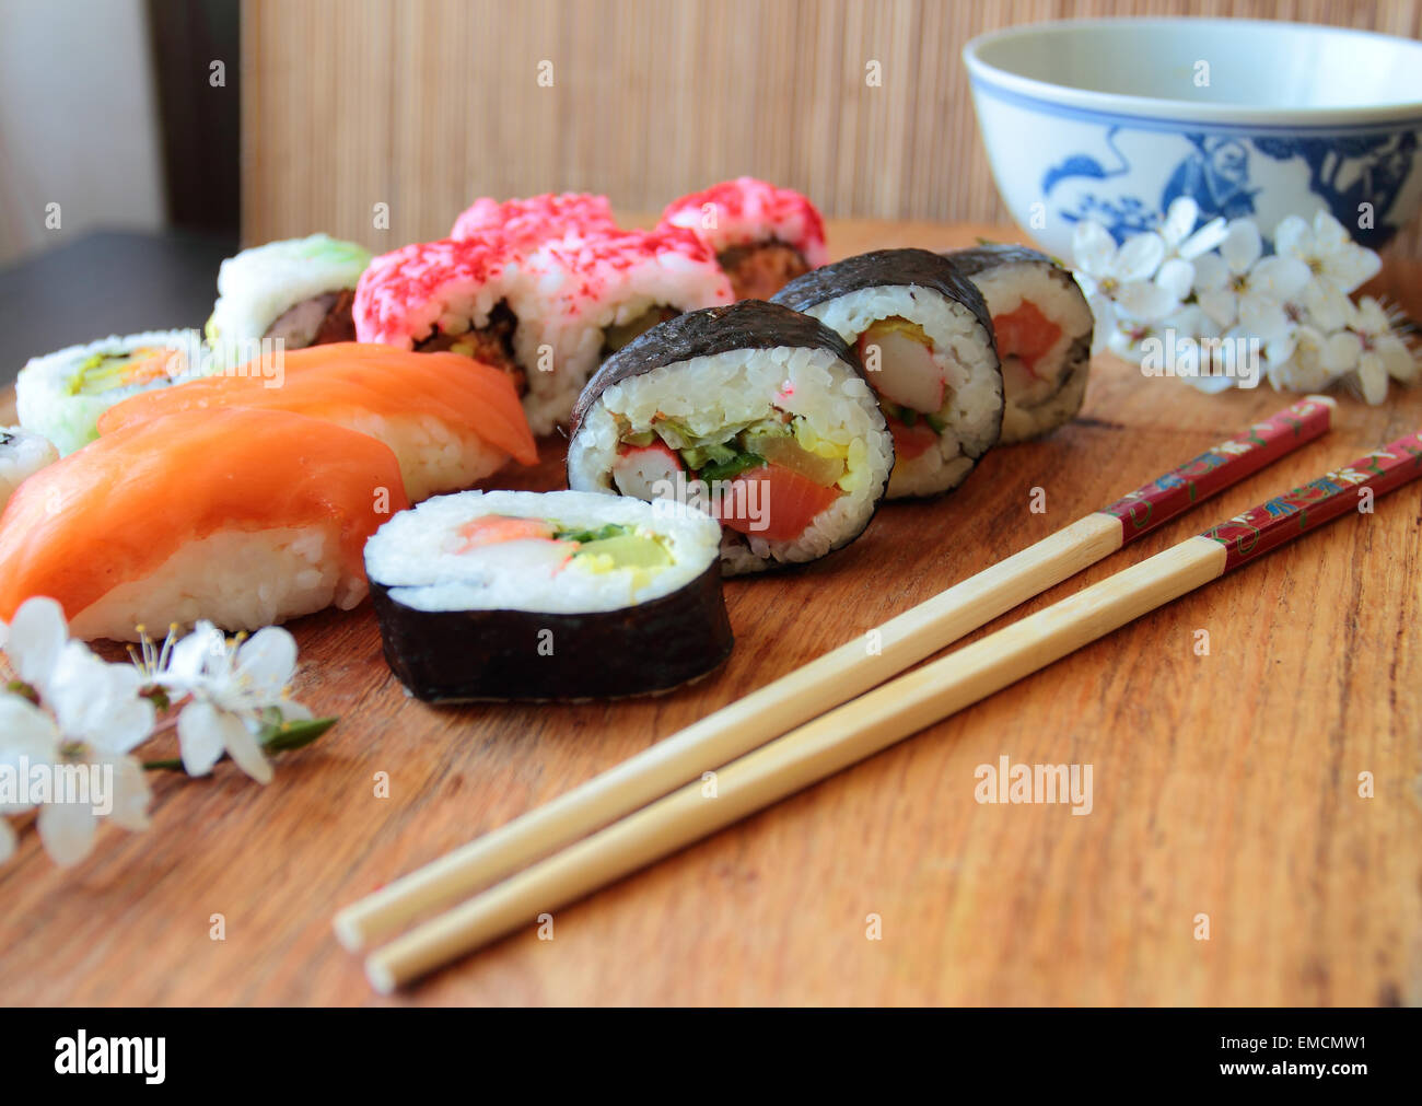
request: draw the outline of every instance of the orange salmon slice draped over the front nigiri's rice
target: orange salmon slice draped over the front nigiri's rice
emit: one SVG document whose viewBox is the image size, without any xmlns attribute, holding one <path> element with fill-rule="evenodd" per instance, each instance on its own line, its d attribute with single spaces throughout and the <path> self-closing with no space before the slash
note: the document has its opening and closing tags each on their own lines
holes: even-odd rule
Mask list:
<svg viewBox="0 0 1422 1106">
<path fill-rule="evenodd" d="M 395 455 L 375 438 L 284 411 L 179 411 L 114 431 L 20 485 L 0 515 L 0 618 L 50 596 L 74 620 L 188 543 L 226 532 L 320 526 L 334 539 L 324 556 L 363 587 L 365 539 L 407 506 Z M 225 567 L 250 570 L 205 571 L 218 580 Z"/>
</svg>

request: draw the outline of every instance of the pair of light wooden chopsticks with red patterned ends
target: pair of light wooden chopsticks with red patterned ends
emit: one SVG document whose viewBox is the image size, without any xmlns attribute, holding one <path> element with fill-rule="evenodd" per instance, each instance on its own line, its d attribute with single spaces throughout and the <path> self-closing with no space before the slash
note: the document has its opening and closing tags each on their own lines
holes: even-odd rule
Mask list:
<svg viewBox="0 0 1422 1106">
<path fill-rule="evenodd" d="M 877 653 L 866 648 L 865 637 L 855 638 L 567 795 L 388 884 L 337 916 L 338 938 L 353 951 L 361 950 L 432 907 L 488 888 L 368 955 L 371 984 L 388 992 L 529 924 L 543 911 L 557 910 L 870 756 L 1355 509 L 1362 489 L 1376 496 L 1422 475 L 1422 434 L 1412 434 L 973 645 L 899 675 L 1202 499 L 1318 438 L 1330 426 L 1331 409 L 1332 402 L 1321 397 L 1294 404 L 1103 510 L 892 618 L 870 631 Z M 702 792 L 705 771 L 715 771 L 715 799 Z"/>
</svg>

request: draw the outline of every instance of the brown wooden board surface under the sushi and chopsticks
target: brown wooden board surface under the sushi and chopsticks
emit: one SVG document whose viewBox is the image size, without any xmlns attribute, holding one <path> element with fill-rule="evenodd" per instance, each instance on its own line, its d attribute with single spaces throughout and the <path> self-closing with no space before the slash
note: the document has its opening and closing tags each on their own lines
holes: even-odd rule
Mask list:
<svg viewBox="0 0 1422 1106">
<path fill-rule="evenodd" d="M 830 226 L 840 256 L 978 233 L 1017 237 Z M 1419 274 L 1398 263 L 1381 281 L 1413 317 Z M 365 891 L 1285 402 L 1267 385 L 1204 397 L 1101 358 L 1081 418 L 994 451 L 957 495 L 884 508 L 819 564 L 728 583 L 729 664 L 665 698 L 435 709 L 388 672 L 368 604 L 300 620 L 297 695 L 341 724 L 267 788 L 230 765 L 161 775 L 152 829 L 102 830 L 74 870 L 27 833 L 0 869 L 0 1002 L 1422 1002 L 1419 485 L 559 911 L 553 940 L 529 918 L 374 999 L 330 931 Z M 1325 439 L 1024 611 L 1419 424 L 1419 394 L 1344 398 Z M 559 442 L 542 455 L 509 483 L 560 486 Z M 1045 513 L 1030 510 L 1035 488 Z M 1091 813 L 977 803 L 977 766 L 1001 756 L 1092 765 Z"/>
</svg>

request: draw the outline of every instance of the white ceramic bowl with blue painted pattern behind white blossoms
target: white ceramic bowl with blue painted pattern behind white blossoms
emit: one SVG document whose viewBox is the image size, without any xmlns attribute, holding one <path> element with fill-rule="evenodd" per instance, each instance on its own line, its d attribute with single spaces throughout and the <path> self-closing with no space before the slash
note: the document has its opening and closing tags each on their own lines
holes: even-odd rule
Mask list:
<svg viewBox="0 0 1422 1106">
<path fill-rule="evenodd" d="M 963 51 L 1012 216 L 1071 256 L 1075 225 L 1118 240 L 1177 196 L 1268 235 L 1322 209 L 1378 249 L 1422 200 L 1422 43 L 1338 27 L 1071 20 Z"/>
</svg>

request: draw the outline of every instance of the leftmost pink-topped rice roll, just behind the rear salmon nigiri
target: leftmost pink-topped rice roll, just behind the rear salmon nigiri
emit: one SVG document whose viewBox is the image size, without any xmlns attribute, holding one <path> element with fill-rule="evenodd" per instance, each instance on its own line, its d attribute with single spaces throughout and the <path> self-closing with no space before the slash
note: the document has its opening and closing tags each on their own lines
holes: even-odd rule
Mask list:
<svg viewBox="0 0 1422 1106">
<path fill-rule="evenodd" d="M 417 242 L 381 254 L 361 276 L 356 337 L 483 361 L 523 395 L 539 363 L 526 289 L 513 250 L 496 233 Z"/>
</svg>

